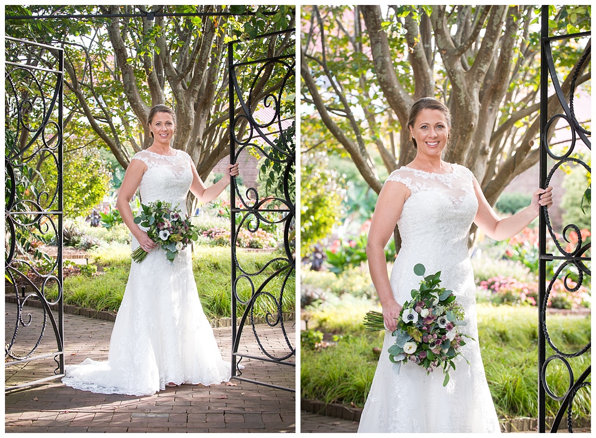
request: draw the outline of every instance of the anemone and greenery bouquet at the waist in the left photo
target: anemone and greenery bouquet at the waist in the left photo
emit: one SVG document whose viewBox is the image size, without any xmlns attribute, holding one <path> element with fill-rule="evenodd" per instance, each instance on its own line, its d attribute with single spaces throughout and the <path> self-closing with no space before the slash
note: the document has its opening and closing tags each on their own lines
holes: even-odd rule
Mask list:
<svg viewBox="0 0 596 438">
<path fill-rule="evenodd" d="M 141 215 L 135 217 L 135 224 L 148 228 L 147 235 L 166 250 L 166 258 L 173 263 L 178 252 L 186 248 L 191 240 L 198 239 L 197 227 L 188 217 L 173 209 L 169 202 L 150 202 L 141 204 Z M 140 246 L 132 253 L 132 260 L 141 263 L 147 257 L 147 251 Z"/>
</svg>

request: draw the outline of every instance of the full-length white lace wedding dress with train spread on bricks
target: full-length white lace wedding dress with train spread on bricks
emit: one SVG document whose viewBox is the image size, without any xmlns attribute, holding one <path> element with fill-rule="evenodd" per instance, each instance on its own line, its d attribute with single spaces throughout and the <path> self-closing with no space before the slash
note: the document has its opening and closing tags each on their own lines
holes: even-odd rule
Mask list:
<svg viewBox="0 0 596 438">
<path fill-rule="evenodd" d="M 142 202 L 166 201 L 186 213 L 193 173 L 190 156 L 176 153 L 144 150 L 133 159 L 147 165 L 139 186 Z M 138 246 L 133 237 L 132 250 Z M 173 264 L 158 246 L 141 263 L 131 263 L 107 362 L 88 358 L 67 365 L 62 381 L 94 393 L 141 396 L 170 382 L 212 385 L 228 381 L 230 375 L 230 362 L 222 360 L 198 299 L 190 246 Z"/>
</svg>

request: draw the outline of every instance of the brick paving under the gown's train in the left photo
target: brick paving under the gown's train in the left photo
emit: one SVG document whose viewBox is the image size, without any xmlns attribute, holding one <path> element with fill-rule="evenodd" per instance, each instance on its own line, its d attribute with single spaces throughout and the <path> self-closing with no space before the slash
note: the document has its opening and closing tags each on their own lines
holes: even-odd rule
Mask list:
<svg viewBox="0 0 596 438">
<path fill-rule="evenodd" d="M 14 331 L 15 305 L 5 303 L 5 334 Z M 33 322 L 42 319 L 42 311 L 26 307 Z M 11 327 L 12 325 L 12 327 Z M 39 330 L 19 328 L 17 345 L 35 344 Z M 49 325 L 49 323 L 48 323 Z M 107 359 L 112 322 L 67 314 L 64 319 L 66 363 L 80 363 L 85 357 Z M 286 326 L 294 340 L 294 328 Z M 266 333 L 259 326 L 259 332 Z M 214 329 L 224 358 L 230 357 L 231 329 Z M 252 331 L 247 335 L 252 335 Z M 246 338 L 250 340 L 250 337 Z M 51 350 L 55 338 L 51 328 L 44 335 L 38 354 Z M 254 340 L 254 338 L 253 338 Z M 264 337 L 268 348 L 284 351 L 280 332 Z M 246 353 L 261 356 L 255 341 L 246 345 Z M 270 350 L 270 351 L 271 351 Z M 243 377 L 294 387 L 295 368 L 244 359 Z M 52 359 L 27 363 L 20 369 L 6 369 L 7 384 L 48 375 L 55 368 Z M 63 385 L 59 380 L 8 394 L 5 397 L 7 432 L 294 432 L 296 397 L 294 393 L 232 380 L 231 384 L 182 385 L 166 388 L 153 396 L 135 397 L 119 394 L 94 394 Z"/>
</svg>

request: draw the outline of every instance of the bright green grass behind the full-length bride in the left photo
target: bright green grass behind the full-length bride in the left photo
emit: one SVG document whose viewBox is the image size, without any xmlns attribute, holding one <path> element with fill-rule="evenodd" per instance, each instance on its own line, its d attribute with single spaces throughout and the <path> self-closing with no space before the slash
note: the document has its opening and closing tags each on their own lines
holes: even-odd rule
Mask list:
<svg viewBox="0 0 596 438">
<path fill-rule="evenodd" d="M 238 251 L 238 261 L 248 272 L 255 272 L 272 258 L 269 252 Z M 93 252 L 94 263 L 104 268 L 101 275 L 93 277 L 72 276 L 64 280 L 64 303 L 88 307 L 95 310 L 118 310 L 128 281 L 131 267 L 130 246 L 111 243 Z M 280 263 L 270 265 L 265 272 L 254 277 L 256 288 Z M 197 282 L 198 295 L 203 310 L 209 319 L 231 316 L 231 258 L 229 248 L 198 246 L 193 256 L 193 273 Z M 285 272 L 284 272 L 285 274 Z M 264 289 L 274 297 L 279 297 L 283 278 L 275 277 Z M 282 300 L 282 309 L 292 312 L 295 309 L 295 277 L 288 279 Z M 238 283 L 238 293 L 246 300 L 250 297 L 250 287 L 246 282 Z M 57 289 L 49 289 L 48 298 L 57 297 Z M 244 306 L 238 306 L 238 314 Z M 256 316 L 277 313 L 274 302 L 266 297 L 259 298 L 254 306 Z"/>
</svg>

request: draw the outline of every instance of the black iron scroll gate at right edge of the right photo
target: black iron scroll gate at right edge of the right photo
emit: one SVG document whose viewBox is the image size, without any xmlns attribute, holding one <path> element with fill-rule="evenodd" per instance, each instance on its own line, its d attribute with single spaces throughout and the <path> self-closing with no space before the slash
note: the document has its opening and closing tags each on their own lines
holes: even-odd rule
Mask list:
<svg viewBox="0 0 596 438">
<path fill-rule="evenodd" d="M 549 36 L 548 35 L 548 6 L 542 7 L 542 35 L 541 35 L 541 50 L 542 50 L 542 58 L 541 58 L 541 130 L 540 130 L 540 186 L 541 187 L 548 187 L 550 185 L 550 181 L 552 175 L 563 165 L 575 165 L 575 166 L 582 166 L 586 169 L 586 171 L 591 172 L 591 168 L 583 162 L 581 159 L 573 158 L 571 155 L 573 152 L 577 152 L 576 146 L 587 147 L 591 150 L 591 143 L 589 140 L 589 136 L 591 132 L 587 131 L 586 129 L 582 128 L 578 122 L 578 119 L 575 116 L 575 112 L 573 109 L 573 94 L 576 88 L 576 79 L 578 75 L 585 71 L 586 67 L 588 67 L 590 61 L 590 53 L 591 53 L 591 41 L 588 42 L 586 45 L 585 52 L 583 53 L 581 59 L 578 61 L 576 66 L 573 68 L 573 76 L 570 82 L 570 91 L 569 95 L 565 95 L 564 92 L 561 90 L 561 85 L 558 82 L 557 72 L 555 71 L 555 64 L 552 57 L 551 51 L 551 42 L 555 40 L 567 40 L 573 38 L 585 38 L 586 36 L 590 36 L 590 32 L 582 32 L 582 33 L 575 33 L 570 35 L 564 36 Z M 551 82 L 549 83 L 549 77 L 551 78 Z M 555 94 L 557 95 L 558 101 L 563 108 L 563 113 L 555 114 L 551 118 L 548 118 L 548 90 L 553 89 Z M 569 99 L 569 103 L 567 103 L 567 98 Z M 548 118 L 548 119 L 547 119 Z M 557 124 L 560 120 L 566 121 L 569 125 L 572 140 L 569 146 L 569 149 L 566 153 L 562 155 L 557 155 L 551 150 L 551 146 L 549 144 L 550 139 L 550 132 L 551 129 L 554 128 L 554 125 Z M 589 117 L 588 117 L 589 119 Z M 581 143 L 578 143 L 578 140 Z M 548 158 L 551 158 L 554 161 L 554 164 L 548 169 Z M 551 164 L 552 164 L 551 161 Z M 578 200 L 579 201 L 579 200 Z M 588 207 L 589 208 L 589 207 Z M 547 229 L 548 233 L 552 240 L 557 247 L 558 252 L 560 255 L 556 254 L 548 254 L 547 247 L 546 247 L 546 239 L 547 239 Z M 567 251 L 567 248 L 563 248 L 564 245 L 561 245 L 561 242 L 555 232 L 552 230 L 551 221 L 548 216 L 548 211 L 546 208 L 541 208 L 541 215 L 540 215 L 540 223 L 539 223 L 539 254 L 540 254 L 540 271 L 539 271 L 539 314 L 538 314 L 538 325 L 539 325 L 539 336 L 538 336 L 538 372 L 539 372 L 539 382 L 538 382 L 538 431 L 540 433 L 544 433 L 546 429 L 546 415 L 545 415 L 545 402 L 546 402 L 546 395 L 548 394 L 551 399 L 557 400 L 561 402 L 560 408 L 558 409 L 557 415 L 554 418 L 554 421 L 551 425 L 551 432 L 557 432 L 559 424 L 563 419 L 563 416 L 567 416 L 567 428 L 569 432 L 573 432 L 572 427 L 572 412 L 573 412 L 573 399 L 578 393 L 581 388 L 590 386 L 591 383 L 586 381 L 586 379 L 591 374 L 591 366 L 588 367 L 582 372 L 582 374 L 575 379 L 572 371 L 572 366 L 569 363 L 568 359 L 572 359 L 578 356 L 581 356 L 583 353 L 588 351 L 591 348 L 591 343 L 588 343 L 586 346 L 581 348 L 578 351 L 573 353 L 564 353 L 561 351 L 554 343 L 552 338 L 548 333 L 548 325 L 547 325 L 547 303 L 548 298 L 551 293 L 552 286 L 555 280 L 564 274 L 563 283 L 567 291 L 575 292 L 579 289 L 582 285 L 582 282 L 586 279 L 586 277 L 591 277 L 591 267 L 589 266 L 589 262 L 591 261 L 591 257 L 586 256 L 586 252 L 589 251 L 591 248 L 591 242 L 583 243 L 582 242 L 582 235 L 579 230 L 579 227 L 575 224 L 568 224 L 563 229 L 563 239 L 569 243 L 568 240 L 568 233 L 575 232 L 578 236 L 578 242 L 574 249 Z M 555 251 L 556 252 L 556 251 Z M 552 278 L 547 277 L 547 263 L 560 263 L 560 265 L 553 269 L 554 275 Z M 587 264 L 587 266 L 586 266 Z M 570 272 L 569 268 L 573 270 L 577 270 L 577 273 L 574 274 L 577 276 L 577 283 L 575 286 L 570 285 L 568 280 L 570 280 Z M 548 283 L 548 284 L 547 284 Z M 588 280 L 589 283 L 589 280 Z M 554 354 L 546 357 L 546 346 L 550 346 L 554 351 Z M 562 395 L 557 395 L 552 392 L 552 390 L 548 387 L 547 383 L 547 375 L 548 375 L 548 364 L 554 360 L 560 360 L 563 362 L 564 366 L 566 367 L 567 371 L 569 372 L 569 387 L 567 388 L 566 392 Z"/>
</svg>

